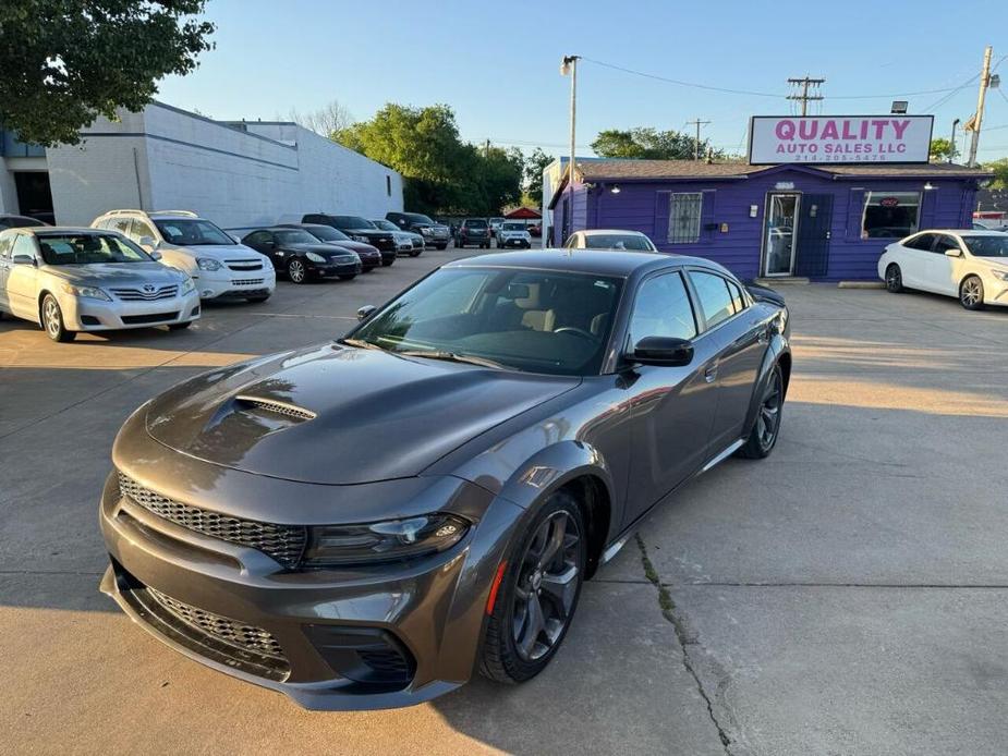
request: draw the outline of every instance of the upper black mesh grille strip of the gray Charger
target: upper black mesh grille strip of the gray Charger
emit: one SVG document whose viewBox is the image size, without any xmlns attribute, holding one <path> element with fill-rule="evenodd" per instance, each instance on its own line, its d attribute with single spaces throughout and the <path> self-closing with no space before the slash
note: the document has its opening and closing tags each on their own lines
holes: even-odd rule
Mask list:
<svg viewBox="0 0 1008 756">
<path fill-rule="evenodd" d="M 151 491 L 122 473 L 119 474 L 119 490 L 134 503 L 163 520 L 211 538 L 256 549 L 287 568 L 296 565 L 304 551 L 307 532 L 300 525 L 243 520 L 190 507 Z"/>
</svg>

